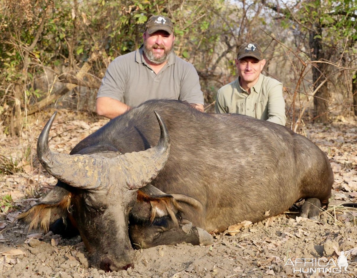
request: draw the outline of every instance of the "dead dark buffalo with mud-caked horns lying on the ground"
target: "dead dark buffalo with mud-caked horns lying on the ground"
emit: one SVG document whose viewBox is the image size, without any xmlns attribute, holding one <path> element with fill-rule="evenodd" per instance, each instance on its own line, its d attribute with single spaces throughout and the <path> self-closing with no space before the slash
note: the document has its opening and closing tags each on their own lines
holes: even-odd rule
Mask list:
<svg viewBox="0 0 357 278">
<path fill-rule="evenodd" d="M 79 230 L 92 266 L 106 271 L 131 266 L 132 246 L 210 244 L 206 231 L 261 221 L 302 198 L 301 215 L 316 218 L 331 195 L 325 153 L 275 123 L 152 100 L 65 155 L 48 147 L 54 117 L 37 156 L 58 183 L 17 220 L 47 231 L 60 217 L 66 231 Z"/>
</svg>

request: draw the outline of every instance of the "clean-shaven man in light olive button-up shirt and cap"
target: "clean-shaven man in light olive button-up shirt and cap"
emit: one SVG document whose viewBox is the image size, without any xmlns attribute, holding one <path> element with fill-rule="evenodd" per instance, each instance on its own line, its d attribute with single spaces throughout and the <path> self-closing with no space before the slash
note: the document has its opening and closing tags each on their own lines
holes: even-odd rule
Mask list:
<svg viewBox="0 0 357 278">
<path fill-rule="evenodd" d="M 241 45 L 235 59 L 239 77 L 218 90 L 216 113 L 238 113 L 285 126 L 283 85 L 261 74 L 265 62 L 258 44 Z"/>
</svg>

